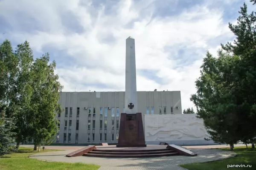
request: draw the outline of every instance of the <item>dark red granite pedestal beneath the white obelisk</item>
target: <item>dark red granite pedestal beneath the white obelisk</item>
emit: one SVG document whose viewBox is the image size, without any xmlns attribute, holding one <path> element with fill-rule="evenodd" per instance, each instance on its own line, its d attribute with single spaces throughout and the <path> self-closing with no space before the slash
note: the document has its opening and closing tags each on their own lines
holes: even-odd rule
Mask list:
<svg viewBox="0 0 256 170">
<path fill-rule="evenodd" d="M 141 113 L 121 113 L 116 147 L 146 147 Z"/>
</svg>

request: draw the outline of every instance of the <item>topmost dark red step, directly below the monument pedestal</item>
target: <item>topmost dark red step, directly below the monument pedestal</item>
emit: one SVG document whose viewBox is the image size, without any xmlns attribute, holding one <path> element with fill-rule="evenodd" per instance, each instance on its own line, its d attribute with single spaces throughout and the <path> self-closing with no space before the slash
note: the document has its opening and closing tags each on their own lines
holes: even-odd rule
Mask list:
<svg viewBox="0 0 256 170">
<path fill-rule="evenodd" d="M 93 151 L 97 152 L 156 152 L 156 151 L 169 151 L 170 149 L 164 148 L 164 149 L 140 149 L 138 150 L 136 147 L 135 148 L 125 148 L 125 149 L 94 149 Z"/>
</svg>

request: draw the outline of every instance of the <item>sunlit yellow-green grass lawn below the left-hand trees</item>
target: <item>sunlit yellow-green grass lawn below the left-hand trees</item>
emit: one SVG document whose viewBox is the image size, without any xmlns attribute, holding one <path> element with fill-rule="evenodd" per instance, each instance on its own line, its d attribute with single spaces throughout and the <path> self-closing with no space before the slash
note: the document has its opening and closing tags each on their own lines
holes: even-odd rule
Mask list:
<svg viewBox="0 0 256 170">
<path fill-rule="evenodd" d="M 41 152 L 59 150 L 41 150 Z M 33 148 L 20 147 L 17 153 L 0 156 L 0 170 L 98 170 L 100 166 L 82 163 L 45 162 L 28 156 L 38 153 Z"/>
</svg>

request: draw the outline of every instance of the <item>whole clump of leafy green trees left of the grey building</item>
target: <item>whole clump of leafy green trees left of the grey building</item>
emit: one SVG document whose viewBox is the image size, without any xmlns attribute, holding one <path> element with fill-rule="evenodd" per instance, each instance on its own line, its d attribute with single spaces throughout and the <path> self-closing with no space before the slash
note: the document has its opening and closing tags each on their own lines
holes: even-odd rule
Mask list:
<svg viewBox="0 0 256 170">
<path fill-rule="evenodd" d="M 5 105 L 1 122 L 15 125 L 4 134 L 15 137 L 17 146 L 32 139 L 36 146 L 53 142 L 58 130 L 55 116 L 61 112 L 58 92 L 63 88 L 55 67 L 49 54 L 34 60 L 27 41 L 15 51 L 8 40 L 0 45 L 0 103 Z"/>
</svg>

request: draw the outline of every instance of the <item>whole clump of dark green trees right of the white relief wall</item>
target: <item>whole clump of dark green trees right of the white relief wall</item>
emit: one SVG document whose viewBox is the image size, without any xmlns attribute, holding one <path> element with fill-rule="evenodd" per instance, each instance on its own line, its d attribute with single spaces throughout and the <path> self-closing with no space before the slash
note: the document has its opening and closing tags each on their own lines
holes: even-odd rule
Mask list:
<svg viewBox="0 0 256 170">
<path fill-rule="evenodd" d="M 255 142 L 256 122 L 256 13 L 241 7 L 233 43 L 221 44 L 213 57 L 207 52 L 191 101 L 215 142 Z"/>
</svg>

